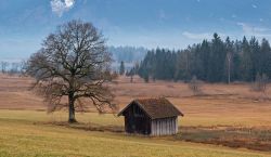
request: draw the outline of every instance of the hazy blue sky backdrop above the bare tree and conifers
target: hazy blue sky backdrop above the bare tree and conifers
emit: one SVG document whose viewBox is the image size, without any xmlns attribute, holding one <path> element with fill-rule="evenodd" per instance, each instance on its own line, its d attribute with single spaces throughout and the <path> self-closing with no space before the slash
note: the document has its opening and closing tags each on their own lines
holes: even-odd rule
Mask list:
<svg viewBox="0 0 271 157">
<path fill-rule="evenodd" d="M 56 26 L 92 22 L 108 45 L 182 49 L 210 39 L 271 39 L 270 0 L 0 0 L 0 60 L 28 57 Z"/>
</svg>

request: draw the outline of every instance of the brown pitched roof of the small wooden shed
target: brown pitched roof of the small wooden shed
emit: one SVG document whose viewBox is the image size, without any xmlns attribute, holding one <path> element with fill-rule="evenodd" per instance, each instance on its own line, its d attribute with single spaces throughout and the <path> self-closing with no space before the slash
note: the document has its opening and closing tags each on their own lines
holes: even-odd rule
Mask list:
<svg viewBox="0 0 271 157">
<path fill-rule="evenodd" d="M 121 116 L 122 113 L 133 103 L 138 104 L 152 119 L 183 116 L 183 114 L 177 107 L 175 107 L 173 104 L 164 97 L 134 100 L 128 106 L 126 106 L 118 114 L 118 116 Z"/>
</svg>

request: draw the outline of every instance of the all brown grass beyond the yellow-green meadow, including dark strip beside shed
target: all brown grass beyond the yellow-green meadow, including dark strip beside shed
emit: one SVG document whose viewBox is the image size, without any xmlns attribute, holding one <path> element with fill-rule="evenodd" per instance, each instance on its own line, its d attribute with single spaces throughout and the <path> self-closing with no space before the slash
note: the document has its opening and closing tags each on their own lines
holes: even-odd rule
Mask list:
<svg viewBox="0 0 271 157">
<path fill-rule="evenodd" d="M 31 81 L 30 78 L 0 75 L 0 109 L 46 110 L 42 99 L 28 91 Z M 121 77 L 117 83 L 108 86 L 116 95 L 115 101 L 120 109 L 131 100 L 140 97 L 166 96 L 177 105 L 184 113 L 184 117 L 180 119 L 181 135 L 171 140 L 267 152 L 271 148 L 271 84 L 263 95 L 253 92 L 247 83 L 205 83 L 204 94 L 198 96 L 193 96 L 188 84 L 183 82 L 144 83 L 136 77 L 134 82 L 130 83 L 129 78 Z M 90 110 L 95 109 L 90 107 Z M 62 120 L 63 118 L 65 119 L 65 116 Z M 91 117 L 92 120 L 95 118 L 101 122 L 101 117 Z M 107 125 L 83 123 L 72 128 L 87 131 L 124 131 L 122 118 L 108 118 L 102 123 Z M 53 125 L 63 126 L 57 123 L 57 120 Z"/>
</svg>

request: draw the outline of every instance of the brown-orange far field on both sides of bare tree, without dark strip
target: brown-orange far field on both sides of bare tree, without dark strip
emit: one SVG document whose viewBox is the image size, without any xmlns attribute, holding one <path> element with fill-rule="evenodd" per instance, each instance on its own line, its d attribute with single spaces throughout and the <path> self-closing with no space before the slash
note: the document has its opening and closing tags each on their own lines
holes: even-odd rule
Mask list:
<svg viewBox="0 0 271 157">
<path fill-rule="evenodd" d="M 30 82 L 29 78 L 0 76 L 0 108 L 46 109 L 42 99 L 27 91 Z M 182 82 L 144 83 L 139 77 L 133 83 L 120 77 L 109 87 L 120 108 L 138 97 L 168 97 L 184 113 L 181 121 L 184 126 L 271 126 L 270 84 L 267 95 L 250 91 L 246 83 L 204 84 L 201 96 L 193 96 L 188 84 Z"/>
</svg>

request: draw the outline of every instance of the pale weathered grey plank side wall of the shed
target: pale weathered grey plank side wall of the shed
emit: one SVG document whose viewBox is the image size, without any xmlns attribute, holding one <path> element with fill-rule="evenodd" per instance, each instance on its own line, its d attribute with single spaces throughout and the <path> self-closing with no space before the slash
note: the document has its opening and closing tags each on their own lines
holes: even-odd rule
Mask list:
<svg viewBox="0 0 271 157">
<path fill-rule="evenodd" d="M 178 117 L 153 119 L 151 135 L 170 135 L 178 132 Z"/>
</svg>

